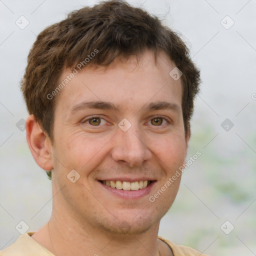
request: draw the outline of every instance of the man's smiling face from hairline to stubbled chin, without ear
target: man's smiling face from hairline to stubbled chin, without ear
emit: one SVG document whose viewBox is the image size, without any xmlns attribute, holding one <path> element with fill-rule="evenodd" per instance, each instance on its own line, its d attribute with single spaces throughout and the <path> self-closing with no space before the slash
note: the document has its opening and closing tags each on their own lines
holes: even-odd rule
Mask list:
<svg viewBox="0 0 256 256">
<path fill-rule="evenodd" d="M 51 152 L 53 188 L 61 190 L 53 211 L 112 233 L 159 223 L 176 196 L 180 176 L 166 182 L 184 162 L 188 140 L 181 79 L 169 76 L 174 66 L 164 53 L 155 63 L 148 51 L 139 63 L 130 57 L 106 70 L 84 68 L 59 92 Z"/>
</svg>

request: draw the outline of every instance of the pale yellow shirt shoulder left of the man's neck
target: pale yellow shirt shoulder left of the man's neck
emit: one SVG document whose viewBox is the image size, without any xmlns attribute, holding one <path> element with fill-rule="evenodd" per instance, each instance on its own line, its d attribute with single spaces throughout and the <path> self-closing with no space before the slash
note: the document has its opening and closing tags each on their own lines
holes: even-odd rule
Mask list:
<svg viewBox="0 0 256 256">
<path fill-rule="evenodd" d="M 32 232 L 20 235 L 14 243 L 0 251 L 0 256 L 54 256 L 31 235 Z"/>
</svg>

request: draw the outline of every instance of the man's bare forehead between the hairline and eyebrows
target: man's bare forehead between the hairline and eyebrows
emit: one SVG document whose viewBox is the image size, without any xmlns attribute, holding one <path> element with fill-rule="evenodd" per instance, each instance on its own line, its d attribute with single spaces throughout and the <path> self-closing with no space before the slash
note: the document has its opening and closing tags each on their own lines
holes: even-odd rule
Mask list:
<svg viewBox="0 0 256 256">
<path fill-rule="evenodd" d="M 81 70 L 65 69 L 59 84 L 65 79 L 68 83 L 58 92 L 56 103 L 71 109 L 84 100 L 108 101 L 122 109 L 129 104 L 141 107 L 150 100 L 164 100 L 181 107 L 181 79 L 169 75 L 174 67 L 165 53 L 159 52 L 155 61 L 153 53 L 146 51 L 138 61 L 135 56 L 125 61 L 115 59 L 107 68 L 88 65 Z"/>
</svg>

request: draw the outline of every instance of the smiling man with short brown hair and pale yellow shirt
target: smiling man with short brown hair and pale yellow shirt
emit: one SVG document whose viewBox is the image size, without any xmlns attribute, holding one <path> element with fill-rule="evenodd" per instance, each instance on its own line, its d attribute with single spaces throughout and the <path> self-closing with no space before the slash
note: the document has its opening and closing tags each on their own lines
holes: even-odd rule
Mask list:
<svg viewBox="0 0 256 256">
<path fill-rule="evenodd" d="M 179 36 L 124 1 L 45 28 L 21 88 L 52 214 L 0 255 L 202 255 L 157 236 L 178 191 L 199 81 Z"/>
</svg>

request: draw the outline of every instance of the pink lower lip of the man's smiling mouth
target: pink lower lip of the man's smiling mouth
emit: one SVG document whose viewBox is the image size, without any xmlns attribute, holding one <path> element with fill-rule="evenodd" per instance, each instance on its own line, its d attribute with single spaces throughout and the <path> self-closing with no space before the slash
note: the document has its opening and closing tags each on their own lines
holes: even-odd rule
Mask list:
<svg viewBox="0 0 256 256">
<path fill-rule="evenodd" d="M 113 193 L 114 195 L 122 198 L 122 199 L 139 199 L 147 194 L 150 193 L 152 190 L 152 187 L 154 186 L 154 183 L 156 181 L 152 181 L 147 187 L 141 188 L 138 190 L 123 190 L 123 189 L 117 189 L 112 188 L 111 186 L 104 185 L 100 181 L 98 183 L 107 191 Z"/>
</svg>

